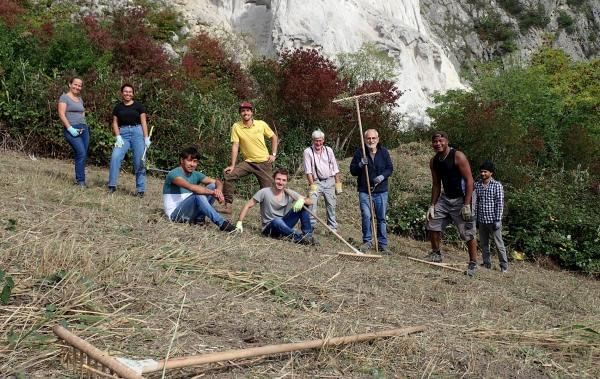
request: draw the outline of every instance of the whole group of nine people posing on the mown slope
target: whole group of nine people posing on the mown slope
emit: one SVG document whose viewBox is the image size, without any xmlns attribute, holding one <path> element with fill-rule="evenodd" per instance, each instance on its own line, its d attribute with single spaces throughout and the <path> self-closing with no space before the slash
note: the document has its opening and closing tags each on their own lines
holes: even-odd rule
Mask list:
<svg viewBox="0 0 600 379">
<path fill-rule="evenodd" d="M 85 107 L 80 92 L 83 82 L 73 78 L 69 90 L 58 103 L 58 113 L 64 126 L 65 139 L 75 153 L 75 178 L 85 186 L 85 161 L 89 146 L 89 128 L 85 123 Z M 113 110 L 112 128 L 115 146 L 109 169 L 109 192 L 117 186 L 121 163 L 126 153 L 133 150 L 136 174 L 136 193 L 145 192 L 146 170 L 143 164 L 150 136 L 145 109 L 136 102 L 133 86 L 121 87 L 122 101 Z M 211 178 L 197 171 L 199 152 L 194 147 L 184 149 L 179 166 L 168 172 L 163 185 L 163 205 L 166 216 L 174 222 L 198 224 L 208 218 L 225 232 L 243 232 L 244 219 L 255 205 L 260 205 L 262 233 L 271 237 L 317 245 L 313 231 L 319 197 L 323 197 L 327 227 L 338 229 L 336 198 L 343 192 L 340 169 L 331 147 L 325 145 L 321 130 L 312 133 L 312 144 L 303 153 L 308 196 L 287 188 L 289 173 L 284 169 L 273 171 L 277 157 L 278 137 L 264 122 L 254 119 L 253 105 L 239 105 L 240 121 L 231 129 L 231 161 L 223 171 L 224 180 Z M 271 140 L 271 151 L 266 144 Z M 432 147 L 435 155 L 430 161 L 432 177 L 431 205 L 427 211 L 427 230 L 431 253 L 427 259 L 442 262 L 441 233 L 450 224 L 458 228 L 469 252 L 467 275 L 477 269 L 476 228 L 483 251 L 483 264 L 491 268 L 490 237 L 498 249 L 501 271 L 507 272 L 506 249 L 502 240 L 503 188 L 493 179 L 491 162 L 484 162 L 479 170 L 481 180 L 474 182 L 469 161 L 464 153 L 452 148 L 444 132 L 434 132 Z M 244 160 L 238 162 L 239 154 Z M 375 129 L 364 132 L 364 147 L 356 150 L 350 163 L 350 173 L 356 177 L 361 212 L 362 245 L 360 251 L 375 249 L 389 254 L 386 214 L 388 208 L 388 179 L 394 170 L 389 151 L 380 141 Z M 235 182 L 254 175 L 261 189 L 243 206 L 238 221 L 233 224 L 224 215 L 233 212 Z M 442 191 L 443 189 L 443 191 Z M 217 201 L 218 205 L 215 205 Z M 300 229 L 296 225 L 300 222 Z M 373 228 L 374 227 L 374 228 Z M 375 229 L 375 230 L 373 230 Z M 375 244 L 375 241 L 377 244 Z"/>
</svg>

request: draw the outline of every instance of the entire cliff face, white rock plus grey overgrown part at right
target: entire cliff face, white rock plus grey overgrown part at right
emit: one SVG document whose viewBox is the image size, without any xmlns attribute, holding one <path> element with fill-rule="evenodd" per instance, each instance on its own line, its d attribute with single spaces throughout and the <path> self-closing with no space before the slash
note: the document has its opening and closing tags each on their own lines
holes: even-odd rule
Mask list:
<svg viewBox="0 0 600 379">
<path fill-rule="evenodd" d="M 313 47 L 329 58 L 375 44 L 398 63 L 399 111 L 427 123 L 435 91 L 470 62 L 521 62 L 542 45 L 599 56 L 600 0 L 176 0 L 192 29 L 231 33 L 240 61 Z M 231 35 L 231 34 L 229 34 Z M 231 37 L 230 37 L 231 39 Z M 240 43 L 243 41 L 243 43 Z M 231 42 L 231 41 L 230 41 Z M 231 43 L 230 43 L 231 45 Z M 240 48 L 244 46 L 245 48 Z"/>
</svg>

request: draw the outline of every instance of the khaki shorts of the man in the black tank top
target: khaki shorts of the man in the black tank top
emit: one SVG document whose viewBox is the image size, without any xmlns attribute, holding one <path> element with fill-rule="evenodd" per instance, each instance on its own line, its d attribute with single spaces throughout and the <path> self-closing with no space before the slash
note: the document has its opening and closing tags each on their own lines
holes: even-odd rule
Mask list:
<svg viewBox="0 0 600 379">
<path fill-rule="evenodd" d="M 449 199 L 445 195 L 440 196 L 435 203 L 435 217 L 427 222 L 427 230 L 432 232 L 443 232 L 452 222 L 458 228 L 458 233 L 463 241 L 475 238 L 475 215 L 473 220 L 465 221 L 460 216 L 460 210 L 464 205 L 462 197 Z M 471 209 L 475 210 L 475 192 L 471 201 Z"/>
</svg>

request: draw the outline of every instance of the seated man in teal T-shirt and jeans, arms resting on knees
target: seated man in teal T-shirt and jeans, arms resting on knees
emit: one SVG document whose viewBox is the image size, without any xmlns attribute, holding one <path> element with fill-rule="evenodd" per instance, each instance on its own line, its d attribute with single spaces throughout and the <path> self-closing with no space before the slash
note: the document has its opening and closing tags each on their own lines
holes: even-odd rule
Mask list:
<svg viewBox="0 0 600 379">
<path fill-rule="evenodd" d="M 215 199 L 223 203 L 223 183 L 195 171 L 198 150 L 188 147 L 179 154 L 179 167 L 169 171 L 163 186 L 163 204 L 170 220 L 190 224 L 204 223 L 205 217 L 225 232 L 235 226 L 225 220 L 212 206 Z M 200 185 L 204 184 L 204 185 Z"/>
</svg>

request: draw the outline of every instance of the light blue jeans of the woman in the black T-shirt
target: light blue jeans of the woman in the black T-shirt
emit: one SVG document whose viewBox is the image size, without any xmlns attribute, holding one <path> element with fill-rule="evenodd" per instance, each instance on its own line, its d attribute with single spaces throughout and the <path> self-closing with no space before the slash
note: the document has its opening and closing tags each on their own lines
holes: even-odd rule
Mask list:
<svg viewBox="0 0 600 379">
<path fill-rule="evenodd" d="M 136 192 L 144 192 L 146 190 L 146 167 L 142 162 L 142 156 L 146 144 L 144 143 L 144 131 L 141 125 L 124 126 L 120 128 L 121 137 L 123 138 L 123 147 L 115 147 L 112 156 L 110 157 L 110 168 L 108 169 L 108 186 L 116 187 L 119 172 L 121 171 L 121 163 L 125 159 L 125 155 L 129 149 L 133 150 L 133 169 L 135 172 L 135 190 Z"/>
</svg>

